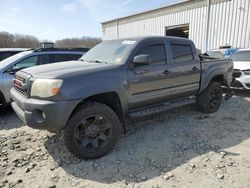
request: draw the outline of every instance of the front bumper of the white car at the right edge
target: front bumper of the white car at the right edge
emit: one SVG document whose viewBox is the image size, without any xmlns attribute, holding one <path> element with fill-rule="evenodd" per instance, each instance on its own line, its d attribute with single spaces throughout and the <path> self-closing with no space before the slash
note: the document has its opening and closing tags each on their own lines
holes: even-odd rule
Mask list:
<svg viewBox="0 0 250 188">
<path fill-rule="evenodd" d="M 250 75 L 245 74 L 243 71 L 240 72 L 240 76 L 235 78 L 231 84 L 232 89 L 250 90 Z"/>
</svg>

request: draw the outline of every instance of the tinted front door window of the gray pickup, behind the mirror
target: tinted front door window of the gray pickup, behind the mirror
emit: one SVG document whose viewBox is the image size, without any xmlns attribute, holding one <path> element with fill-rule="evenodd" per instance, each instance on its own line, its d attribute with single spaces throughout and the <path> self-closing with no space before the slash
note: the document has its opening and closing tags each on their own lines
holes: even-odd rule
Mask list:
<svg viewBox="0 0 250 188">
<path fill-rule="evenodd" d="M 136 55 L 149 55 L 152 65 L 166 64 L 166 49 L 164 44 L 153 44 L 142 47 Z"/>
</svg>

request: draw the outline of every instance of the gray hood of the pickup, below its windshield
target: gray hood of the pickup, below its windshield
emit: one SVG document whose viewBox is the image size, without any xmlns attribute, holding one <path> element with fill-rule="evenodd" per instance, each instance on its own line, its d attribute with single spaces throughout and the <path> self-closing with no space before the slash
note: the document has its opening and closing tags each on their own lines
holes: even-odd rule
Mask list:
<svg viewBox="0 0 250 188">
<path fill-rule="evenodd" d="M 108 69 L 112 65 L 104 63 L 88 63 L 83 61 L 66 61 L 35 66 L 22 70 L 35 78 L 64 78 L 76 74 L 90 73 Z"/>
</svg>

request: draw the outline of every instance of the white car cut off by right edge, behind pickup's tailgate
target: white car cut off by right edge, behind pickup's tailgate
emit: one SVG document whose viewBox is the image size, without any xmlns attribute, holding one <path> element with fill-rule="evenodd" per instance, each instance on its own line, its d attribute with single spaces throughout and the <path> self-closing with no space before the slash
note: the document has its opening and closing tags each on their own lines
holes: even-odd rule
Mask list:
<svg viewBox="0 0 250 188">
<path fill-rule="evenodd" d="M 250 90 L 250 49 L 241 49 L 231 56 L 234 63 L 234 89 Z"/>
</svg>

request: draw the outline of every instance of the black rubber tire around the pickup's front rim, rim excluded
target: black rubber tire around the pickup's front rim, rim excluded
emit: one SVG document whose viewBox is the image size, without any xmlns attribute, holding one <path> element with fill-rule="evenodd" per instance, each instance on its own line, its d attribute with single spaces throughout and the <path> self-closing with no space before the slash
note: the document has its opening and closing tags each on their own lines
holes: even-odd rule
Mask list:
<svg viewBox="0 0 250 188">
<path fill-rule="evenodd" d="M 81 146 L 75 140 L 74 131 L 79 126 L 79 122 L 81 122 L 85 117 L 91 116 L 93 114 L 99 114 L 100 116 L 108 119 L 112 127 L 112 133 L 104 147 L 95 149 L 94 151 L 86 151 L 81 148 Z M 81 159 L 95 159 L 102 157 L 113 150 L 121 136 L 121 128 L 122 126 L 118 116 L 110 107 L 102 103 L 87 102 L 84 103 L 70 118 L 64 130 L 64 140 L 68 150 L 76 157 Z"/>
</svg>

